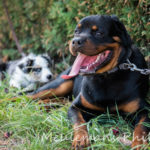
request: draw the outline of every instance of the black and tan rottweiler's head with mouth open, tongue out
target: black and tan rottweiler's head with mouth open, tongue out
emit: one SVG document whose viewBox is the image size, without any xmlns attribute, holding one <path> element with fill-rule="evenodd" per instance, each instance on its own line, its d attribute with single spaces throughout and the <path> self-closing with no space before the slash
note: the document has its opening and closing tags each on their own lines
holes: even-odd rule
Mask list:
<svg viewBox="0 0 150 150">
<path fill-rule="evenodd" d="M 107 72 L 127 59 L 132 41 L 125 26 L 116 16 L 93 15 L 83 18 L 76 26 L 70 42 L 70 52 L 77 55 L 69 79 L 79 72 Z"/>
</svg>

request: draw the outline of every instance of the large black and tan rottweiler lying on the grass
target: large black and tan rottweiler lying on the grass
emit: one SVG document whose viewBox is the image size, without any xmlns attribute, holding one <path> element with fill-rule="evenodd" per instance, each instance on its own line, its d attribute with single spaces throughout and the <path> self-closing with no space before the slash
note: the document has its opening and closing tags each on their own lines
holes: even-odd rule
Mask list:
<svg viewBox="0 0 150 150">
<path fill-rule="evenodd" d="M 92 15 L 81 19 L 70 43 L 70 52 L 77 55 L 72 67 L 30 97 L 48 102 L 54 95 L 73 94 L 75 99 L 68 116 L 73 123 L 74 149 L 90 145 L 85 123 L 107 110 L 134 118 L 132 147 L 147 144 L 150 128 L 143 122 L 150 122 L 150 106 L 145 101 L 148 75 L 119 67 L 127 60 L 138 68 L 147 68 L 147 65 L 138 48 L 133 46 L 123 23 L 115 15 Z"/>
</svg>

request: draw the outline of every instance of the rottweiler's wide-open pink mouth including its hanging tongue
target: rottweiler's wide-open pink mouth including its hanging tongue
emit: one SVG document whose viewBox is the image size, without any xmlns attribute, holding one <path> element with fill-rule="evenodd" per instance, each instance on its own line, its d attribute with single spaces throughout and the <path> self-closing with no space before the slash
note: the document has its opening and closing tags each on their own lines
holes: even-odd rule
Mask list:
<svg viewBox="0 0 150 150">
<path fill-rule="evenodd" d="M 98 69 L 109 63 L 112 58 L 112 54 L 113 52 L 111 50 L 105 50 L 104 52 L 95 56 L 87 56 L 85 54 L 79 53 L 69 75 L 63 75 L 62 78 L 70 79 L 79 73 L 95 73 Z"/>
</svg>

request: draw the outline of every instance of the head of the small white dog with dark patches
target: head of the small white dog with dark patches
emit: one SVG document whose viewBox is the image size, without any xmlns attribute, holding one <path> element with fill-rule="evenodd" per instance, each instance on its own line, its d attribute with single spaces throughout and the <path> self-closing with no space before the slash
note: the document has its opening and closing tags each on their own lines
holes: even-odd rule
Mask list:
<svg viewBox="0 0 150 150">
<path fill-rule="evenodd" d="M 50 70 L 51 59 L 48 55 L 33 55 L 23 58 L 18 64 L 18 68 L 31 82 L 46 83 L 52 79 Z"/>
</svg>

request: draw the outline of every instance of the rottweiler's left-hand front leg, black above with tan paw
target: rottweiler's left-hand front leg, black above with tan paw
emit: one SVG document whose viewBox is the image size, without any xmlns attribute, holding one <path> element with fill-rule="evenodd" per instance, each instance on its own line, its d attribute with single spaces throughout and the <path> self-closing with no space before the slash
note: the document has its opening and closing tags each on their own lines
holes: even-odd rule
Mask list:
<svg viewBox="0 0 150 150">
<path fill-rule="evenodd" d="M 78 96 L 74 102 L 80 101 Z M 81 109 L 74 103 L 71 105 L 68 111 L 68 116 L 73 123 L 74 138 L 72 147 L 73 149 L 82 149 L 90 145 L 86 121 L 83 119 Z"/>
</svg>

